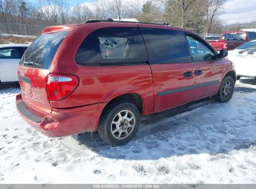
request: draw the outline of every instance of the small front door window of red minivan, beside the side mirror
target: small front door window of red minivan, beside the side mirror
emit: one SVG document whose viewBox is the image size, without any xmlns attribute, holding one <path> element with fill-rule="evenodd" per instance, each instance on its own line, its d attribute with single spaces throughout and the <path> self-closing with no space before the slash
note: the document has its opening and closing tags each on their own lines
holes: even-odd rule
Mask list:
<svg viewBox="0 0 256 189">
<path fill-rule="evenodd" d="M 216 60 L 214 53 L 199 40 L 187 35 L 187 41 L 189 42 L 193 61 Z"/>
</svg>

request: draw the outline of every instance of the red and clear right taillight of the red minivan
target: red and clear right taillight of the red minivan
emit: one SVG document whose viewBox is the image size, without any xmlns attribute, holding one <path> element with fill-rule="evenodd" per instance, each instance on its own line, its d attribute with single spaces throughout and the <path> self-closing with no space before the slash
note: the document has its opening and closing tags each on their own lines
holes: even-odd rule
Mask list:
<svg viewBox="0 0 256 189">
<path fill-rule="evenodd" d="M 59 101 L 69 96 L 78 85 L 78 77 L 74 75 L 50 73 L 46 87 L 50 101 Z"/>
</svg>

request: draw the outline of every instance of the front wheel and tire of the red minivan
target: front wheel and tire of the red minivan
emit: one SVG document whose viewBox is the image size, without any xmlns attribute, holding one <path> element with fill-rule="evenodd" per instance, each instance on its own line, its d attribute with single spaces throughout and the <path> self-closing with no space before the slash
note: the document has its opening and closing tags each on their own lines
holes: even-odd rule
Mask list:
<svg viewBox="0 0 256 189">
<path fill-rule="evenodd" d="M 219 103 L 228 102 L 233 96 L 234 86 L 235 83 L 232 76 L 226 76 L 220 85 L 218 93 L 214 95 L 214 100 Z"/>
</svg>

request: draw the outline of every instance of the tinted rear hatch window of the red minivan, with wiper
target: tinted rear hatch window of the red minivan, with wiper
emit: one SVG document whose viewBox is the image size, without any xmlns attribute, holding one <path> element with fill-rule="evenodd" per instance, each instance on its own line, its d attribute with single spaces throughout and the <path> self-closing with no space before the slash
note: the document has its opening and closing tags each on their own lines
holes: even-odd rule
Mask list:
<svg viewBox="0 0 256 189">
<path fill-rule="evenodd" d="M 37 38 L 21 58 L 21 65 L 48 70 L 62 40 L 69 32 L 44 34 Z"/>
</svg>

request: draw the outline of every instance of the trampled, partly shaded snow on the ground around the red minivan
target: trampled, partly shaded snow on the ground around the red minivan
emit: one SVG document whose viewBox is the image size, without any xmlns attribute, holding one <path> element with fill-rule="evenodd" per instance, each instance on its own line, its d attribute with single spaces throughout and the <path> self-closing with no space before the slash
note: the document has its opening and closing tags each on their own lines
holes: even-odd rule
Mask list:
<svg viewBox="0 0 256 189">
<path fill-rule="evenodd" d="M 45 137 L 17 113 L 17 93 L 0 90 L 0 183 L 256 183 L 254 79 L 238 81 L 229 103 L 142 118 L 120 147 L 98 134 Z"/>
</svg>

